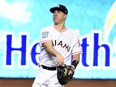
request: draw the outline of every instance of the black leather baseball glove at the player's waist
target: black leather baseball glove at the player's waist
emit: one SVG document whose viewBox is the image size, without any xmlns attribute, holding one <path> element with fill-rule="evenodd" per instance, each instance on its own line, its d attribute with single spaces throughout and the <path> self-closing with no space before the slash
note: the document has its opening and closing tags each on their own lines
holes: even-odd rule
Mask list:
<svg viewBox="0 0 116 87">
<path fill-rule="evenodd" d="M 71 66 L 68 65 L 58 65 L 57 66 L 57 78 L 61 85 L 67 84 L 72 80 L 74 71 L 71 69 Z"/>
</svg>

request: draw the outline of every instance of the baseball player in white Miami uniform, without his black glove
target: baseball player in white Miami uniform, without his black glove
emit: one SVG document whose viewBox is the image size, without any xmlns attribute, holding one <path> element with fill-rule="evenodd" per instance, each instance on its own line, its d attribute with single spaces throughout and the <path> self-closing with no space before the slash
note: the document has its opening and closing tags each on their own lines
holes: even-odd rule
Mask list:
<svg viewBox="0 0 116 87">
<path fill-rule="evenodd" d="M 56 66 L 71 65 L 74 70 L 79 63 L 81 46 L 76 30 L 65 26 L 68 10 L 64 5 L 52 7 L 54 25 L 40 33 L 40 64 L 32 87 L 64 87 L 58 82 Z M 71 55 L 73 61 L 71 62 Z"/>
</svg>

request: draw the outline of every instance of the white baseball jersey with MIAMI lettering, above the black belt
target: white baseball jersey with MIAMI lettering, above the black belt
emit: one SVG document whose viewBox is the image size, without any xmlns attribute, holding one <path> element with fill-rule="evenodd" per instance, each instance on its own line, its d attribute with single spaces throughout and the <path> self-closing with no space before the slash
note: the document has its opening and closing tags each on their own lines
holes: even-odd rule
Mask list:
<svg viewBox="0 0 116 87">
<path fill-rule="evenodd" d="M 54 56 L 48 54 L 42 43 L 46 41 L 52 41 L 53 48 L 61 53 L 64 57 L 64 63 L 70 65 L 71 55 L 80 53 L 81 47 L 79 45 L 79 37 L 76 30 L 66 28 L 62 32 L 59 32 L 54 26 L 48 26 L 41 30 L 40 33 L 40 64 L 45 66 L 56 66 L 57 60 Z"/>
</svg>

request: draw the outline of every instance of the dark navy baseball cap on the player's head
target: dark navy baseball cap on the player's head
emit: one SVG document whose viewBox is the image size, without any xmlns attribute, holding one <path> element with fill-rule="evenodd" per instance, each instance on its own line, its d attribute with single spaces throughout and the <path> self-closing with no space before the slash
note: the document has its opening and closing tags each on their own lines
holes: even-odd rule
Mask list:
<svg viewBox="0 0 116 87">
<path fill-rule="evenodd" d="M 65 14 L 68 14 L 67 8 L 64 5 L 61 5 L 61 4 L 58 4 L 57 6 L 52 7 L 50 9 L 50 12 L 53 13 L 55 10 L 59 10 L 59 11 L 62 11 L 63 13 L 65 13 Z"/>
</svg>

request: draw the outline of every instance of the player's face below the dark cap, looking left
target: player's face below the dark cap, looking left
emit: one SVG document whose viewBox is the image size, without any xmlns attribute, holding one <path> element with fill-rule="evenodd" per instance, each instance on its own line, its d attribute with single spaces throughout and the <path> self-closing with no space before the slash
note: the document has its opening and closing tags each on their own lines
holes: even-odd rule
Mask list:
<svg viewBox="0 0 116 87">
<path fill-rule="evenodd" d="M 62 11 L 59 11 L 59 10 L 55 10 L 53 12 L 53 21 L 54 21 L 54 24 L 60 24 L 62 22 L 65 21 L 67 15 L 64 14 Z"/>
</svg>

